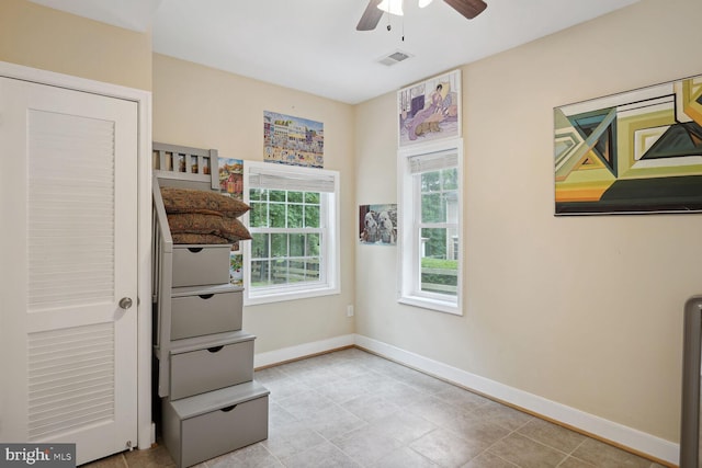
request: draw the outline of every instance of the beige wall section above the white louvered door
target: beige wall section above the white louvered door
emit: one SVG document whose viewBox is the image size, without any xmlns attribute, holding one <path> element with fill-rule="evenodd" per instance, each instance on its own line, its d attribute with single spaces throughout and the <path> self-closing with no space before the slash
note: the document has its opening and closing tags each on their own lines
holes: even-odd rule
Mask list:
<svg viewBox="0 0 702 468">
<path fill-rule="evenodd" d="M 151 89 L 151 35 L 26 0 L 0 1 L 0 60 Z"/>
</svg>

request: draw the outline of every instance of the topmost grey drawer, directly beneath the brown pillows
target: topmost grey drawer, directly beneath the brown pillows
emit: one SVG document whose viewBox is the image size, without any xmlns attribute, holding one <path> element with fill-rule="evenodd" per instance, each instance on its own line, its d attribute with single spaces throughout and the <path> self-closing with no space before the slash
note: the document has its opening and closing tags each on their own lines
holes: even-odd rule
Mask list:
<svg viewBox="0 0 702 468">
<path fill-rule="evenodd" d="M 173 287 L 229 283 L 231 246 L 173 246 Z"/>
</svg>

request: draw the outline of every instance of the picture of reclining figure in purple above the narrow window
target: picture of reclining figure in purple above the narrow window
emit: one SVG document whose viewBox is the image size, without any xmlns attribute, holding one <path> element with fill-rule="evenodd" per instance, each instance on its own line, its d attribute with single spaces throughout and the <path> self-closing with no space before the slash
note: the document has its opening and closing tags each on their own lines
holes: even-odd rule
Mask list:
<svg viewBox="0 0 702 468">
<path fill-rule="evenodd" d="M 397 92 L 400 147 L 461 136 L 461 70 Z"/>
</svg>

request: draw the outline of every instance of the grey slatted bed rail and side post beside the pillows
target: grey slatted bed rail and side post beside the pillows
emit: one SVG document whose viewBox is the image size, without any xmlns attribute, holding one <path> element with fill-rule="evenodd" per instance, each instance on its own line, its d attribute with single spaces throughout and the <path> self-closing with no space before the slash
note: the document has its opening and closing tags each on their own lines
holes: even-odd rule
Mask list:
<svg viewBox="0 0 702 468">
<path fill-rule="evenodd" d="M 152 304 L 155 311 L 154 353 L 158 358 L 158 395 L 169 392 L 171 351 L 171 290 L 173 239 L 161 198 L 162 186 L 219 190 L 217 150 L 154 142 L 152 145 Z"/>
</svg>

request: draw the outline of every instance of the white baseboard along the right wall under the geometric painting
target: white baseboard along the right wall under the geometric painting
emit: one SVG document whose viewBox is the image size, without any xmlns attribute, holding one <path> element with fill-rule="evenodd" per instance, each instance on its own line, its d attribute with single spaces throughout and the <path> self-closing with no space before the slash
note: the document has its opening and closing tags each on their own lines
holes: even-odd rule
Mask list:
<svg viewBox="0 0 702 468">
<path fill-rule="evenodd" d="M 441 379 L 473 389 L 488 397 L 505 401 L 533 413 L 543 415 L 586 433 L 632 448 L 642 454 L 677 465 L 679 444 L 656 437 L 645 432 L 586 413 L 575 408 L 547 400 L 537 395 L 500 384 L 495 380 L 449 366 L 390 344 L 355 335 L 354 343 L 381 356 L 396 361 Z"/>
</svg>

